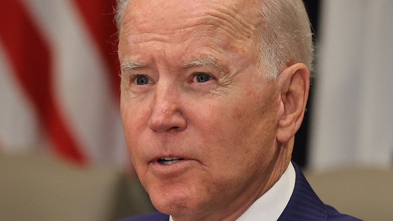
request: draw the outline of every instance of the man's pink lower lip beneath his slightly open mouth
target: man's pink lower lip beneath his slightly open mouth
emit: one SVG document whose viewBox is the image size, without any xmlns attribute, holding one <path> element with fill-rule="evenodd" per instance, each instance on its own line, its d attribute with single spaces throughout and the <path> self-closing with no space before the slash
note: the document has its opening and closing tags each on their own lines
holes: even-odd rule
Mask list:
<svg viewBox="0 0 393 221">
<path fill-rule="evenodd" d="M 174 176 L 186 172 L 191 169 L 191 164 L 195 162 L 192 159 L 182 159 L 172 164 L 164 165 L 156 161 L 149 163 L 149 168 L 158 176 Z"/>
</svg>

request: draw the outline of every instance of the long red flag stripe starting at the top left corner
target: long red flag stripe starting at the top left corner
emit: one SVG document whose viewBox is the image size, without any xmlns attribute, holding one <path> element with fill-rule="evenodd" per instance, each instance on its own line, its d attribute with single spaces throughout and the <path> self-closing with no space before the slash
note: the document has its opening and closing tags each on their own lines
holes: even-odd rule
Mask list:
<svg viewBox="0 0 393 221">
<path fill-rule="evenodd" d="M 87 158 L 68 130 L 53 96 L 49 46 L 19 1 L 2 3 L 0 39 L 14 68 L 15 78 L 34 103 L 39 122 L 47 130 L 54 151 L 68 160 L 86 163 Z"/>
</svg>

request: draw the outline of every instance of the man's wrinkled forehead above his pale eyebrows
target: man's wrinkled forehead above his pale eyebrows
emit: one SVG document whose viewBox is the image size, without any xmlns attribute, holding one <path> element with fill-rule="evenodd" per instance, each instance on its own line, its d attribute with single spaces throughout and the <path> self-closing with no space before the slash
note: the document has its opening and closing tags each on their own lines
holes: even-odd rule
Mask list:
<svg viewBox="0 0 393 221">
<path fill-rule="evenodd" d="M 120 27 L 119 58 L 175 67 L 212 56 L 243 70 L 258 58 L 261 22 L 252 0 L 131 0 Z"/>
</svg>

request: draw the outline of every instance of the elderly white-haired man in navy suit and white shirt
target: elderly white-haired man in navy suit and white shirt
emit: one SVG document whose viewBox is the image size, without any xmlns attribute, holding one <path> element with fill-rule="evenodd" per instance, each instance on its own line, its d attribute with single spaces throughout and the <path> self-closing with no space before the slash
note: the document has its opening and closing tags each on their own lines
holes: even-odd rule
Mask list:
<svg viewBox="0 0 393 221">
<path fill-rule="evenodd" d="M 117 18 L 125 139 L 160 211 L 127 220 L 357 220 L 291 163 L 313 53 L 301 0 L 120 1 Z"/>
</svg>

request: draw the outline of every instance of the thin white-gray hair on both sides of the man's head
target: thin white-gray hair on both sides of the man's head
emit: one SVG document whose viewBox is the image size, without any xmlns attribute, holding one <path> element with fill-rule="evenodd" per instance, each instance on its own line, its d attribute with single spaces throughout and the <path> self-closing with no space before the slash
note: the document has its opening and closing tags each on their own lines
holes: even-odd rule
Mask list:
<svg viewBox="0 0 393 221">
<path fill-rule="evenodd" d="M 115 21 L 121 18 L 130 0 L 117 0 Z M 259 0 L 259 12 L 265 19 L 259 29 L 261 72 L 276 79 L 285 66 L 304 63 L 312 70 L 313 43 L 307 12 L 302 0 Z"/>
</svg>

